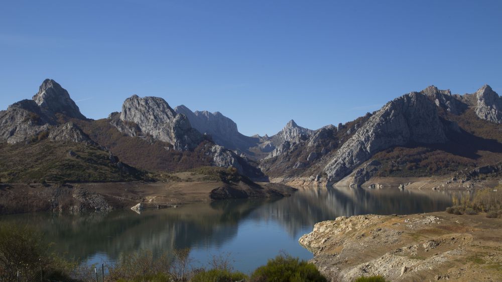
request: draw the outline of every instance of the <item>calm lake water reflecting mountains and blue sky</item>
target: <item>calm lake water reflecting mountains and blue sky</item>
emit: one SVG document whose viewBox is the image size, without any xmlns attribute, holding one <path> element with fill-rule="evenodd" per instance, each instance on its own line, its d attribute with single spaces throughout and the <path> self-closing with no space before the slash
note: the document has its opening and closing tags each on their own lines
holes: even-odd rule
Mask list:
<svg viewBox="0 0 502 282">
<path fill-rule="evenodd" d="M 121 253 L 154 254 L 190 248 L 196 266 L 213 255 L 228 255 L 235 269 L 249 272 L 284 250 L 303 259 L 312 253 L 298 239 L 316 222 L 341 215 L 409 214 L 444 210 L 453 192 L 398 188 L 300 188 L 293 196 L 228 200 L 178 208 L 81 215 L 32 213 L 0 216 L 41 230 L 61 253 L 84 263 L 113 263 Z M 459 193 L 459 192 L 456 192 Z"/>
</svg>

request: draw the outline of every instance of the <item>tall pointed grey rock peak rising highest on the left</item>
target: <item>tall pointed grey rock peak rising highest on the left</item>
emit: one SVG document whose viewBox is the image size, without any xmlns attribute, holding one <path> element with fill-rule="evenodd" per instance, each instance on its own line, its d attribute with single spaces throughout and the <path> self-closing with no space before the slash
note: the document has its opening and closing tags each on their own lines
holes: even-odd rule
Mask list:
<svg viewBox="0 0 502 282">
<path fill-rule="evenodd" d="M 52 79 L 42 82 L 38 93 L 33 96 L 33 101 L 48 116 L 61 113 L 71 118 L 85 119 L 68 91 Z"/>
</svg>

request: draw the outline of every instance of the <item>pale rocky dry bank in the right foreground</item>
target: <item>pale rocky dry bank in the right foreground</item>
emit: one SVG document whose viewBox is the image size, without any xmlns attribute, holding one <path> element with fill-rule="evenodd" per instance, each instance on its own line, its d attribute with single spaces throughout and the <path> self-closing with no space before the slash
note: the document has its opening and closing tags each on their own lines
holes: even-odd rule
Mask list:
<svg viewBox="0 0 502 282">
<path fill-rule="evenodd" d="M 433 212 L 341 216 L 300 238 L 332 281 L 502 280 L 502 219 Z"/>
</svg>

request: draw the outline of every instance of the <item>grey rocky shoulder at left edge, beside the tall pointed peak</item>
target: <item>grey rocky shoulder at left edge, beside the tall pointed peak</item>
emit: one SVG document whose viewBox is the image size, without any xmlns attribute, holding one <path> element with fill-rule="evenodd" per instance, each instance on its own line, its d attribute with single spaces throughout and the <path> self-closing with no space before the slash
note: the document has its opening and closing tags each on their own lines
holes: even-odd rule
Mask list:
<svg viewBox="0 0 502 282">
<path fill-rule="evenodd" d="M 49 120 L 38 105 L 32 100 L 23 100 L 0 114 L 0 141 L 9 144 L 28 141 L 49 127 Z"/>
</svg>

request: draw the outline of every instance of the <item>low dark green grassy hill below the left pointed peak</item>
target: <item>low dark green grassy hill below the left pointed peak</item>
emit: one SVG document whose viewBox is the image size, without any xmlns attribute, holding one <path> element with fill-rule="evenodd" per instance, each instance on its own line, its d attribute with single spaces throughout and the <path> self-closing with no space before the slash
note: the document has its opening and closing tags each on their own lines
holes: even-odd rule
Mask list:
<svg viewBox="0 0 502 282">
<path fill-rule="evenodd" d="M 108 152 L 84 143 L 41 140 L 31 144 L 0 143 L 0 181 L 110 182 L 145 180 L 145 172 L 110 161 Z"/>
</svg>

